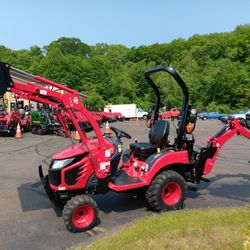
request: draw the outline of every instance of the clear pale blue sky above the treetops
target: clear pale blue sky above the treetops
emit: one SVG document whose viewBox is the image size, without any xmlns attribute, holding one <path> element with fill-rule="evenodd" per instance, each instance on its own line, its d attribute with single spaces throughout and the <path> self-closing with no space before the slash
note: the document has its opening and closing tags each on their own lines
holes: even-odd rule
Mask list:
<svg viewBox="0 0 250 250">
<path fill-rule="evenodd" d="M 250 23 L 249 0 L 0 0 L 0 45 L 40 47 L 64 36 L 128 47 Z"/>
</svg>

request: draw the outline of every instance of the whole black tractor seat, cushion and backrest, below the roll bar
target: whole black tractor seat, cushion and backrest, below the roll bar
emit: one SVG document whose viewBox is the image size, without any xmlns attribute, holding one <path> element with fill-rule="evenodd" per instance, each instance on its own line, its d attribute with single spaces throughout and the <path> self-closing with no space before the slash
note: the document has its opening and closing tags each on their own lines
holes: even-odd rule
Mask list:
<svg viewBox="0 0 250 250">
<path fill-rule="evenodd" d="M 149 142 L 140 142 L 130 144 L 130 149 L 135 154 L 148 157 L 157 152 L 157 148 L 168 144 L 169 122 L 166 120 L 159 120 L 149 131 Z"/>
</svg>

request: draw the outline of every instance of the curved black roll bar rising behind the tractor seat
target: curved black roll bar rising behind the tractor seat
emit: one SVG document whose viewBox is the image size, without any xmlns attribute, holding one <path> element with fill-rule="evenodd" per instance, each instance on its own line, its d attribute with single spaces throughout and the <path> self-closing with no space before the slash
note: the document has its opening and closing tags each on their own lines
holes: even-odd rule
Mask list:
<svg viewBox="0 0 250 250">
<path fill-rule="evenodd" d="M 159 115 L 159 108 L 160 108 L 160 101 L 161 101 L 161 95 L 158 87 L 156 84 L 153 82 L 152 78 L 150 77 L 151 74 L 160 72 L 160 71 L 165 71 L 169 73 L 175 81 L 178 83 L 180 88 L 182 89 L 183 93 L 183 98 L 182 98 L 182 108 L 181 108 L 181 121 L 179 123 L 179 129 L 177 131 L 177 146 L 178 148 L 182 147 L 182 137 L 185 134 L 185 125 L 187 121 L 187 114 L 188 114 L 188 99 L 189 99 L 189 92 L 186 83 L 182 80 L 180 75 L 172 68 L 167 67 L 167 66 L 157 66 L 155 68 L 151 68 L 147 70 L 144 73 L 144 76 L 149 83 L 149 85 L 153 88 L 155 95 L 156 95 L 156 100 L 155 100 L 155 113 L 154 113 L 154 118 L 153 118 L 153 124 L 157 121 L 158 115 Z"/>
</svg>

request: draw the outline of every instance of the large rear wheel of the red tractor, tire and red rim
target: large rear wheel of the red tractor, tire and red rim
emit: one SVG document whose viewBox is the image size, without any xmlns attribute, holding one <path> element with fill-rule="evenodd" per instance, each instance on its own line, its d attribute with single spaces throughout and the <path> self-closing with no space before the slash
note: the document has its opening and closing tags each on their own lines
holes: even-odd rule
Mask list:
<svg viewBox="0 0 250 250">
<path fill-rule="evenodd" d="M 176 171 L 167 170 L 154 178 L 145 196 L 150 208 L 160 212 L 182 209 L 186 192 L 184 178 Z"/>
</svg>

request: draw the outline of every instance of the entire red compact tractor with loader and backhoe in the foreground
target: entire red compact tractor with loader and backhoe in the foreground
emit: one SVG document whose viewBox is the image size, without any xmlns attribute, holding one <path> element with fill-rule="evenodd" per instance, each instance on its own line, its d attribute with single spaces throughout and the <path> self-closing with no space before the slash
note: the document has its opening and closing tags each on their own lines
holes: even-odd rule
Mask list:
<svg viewBox="0 0 250 250">
<path fill-rule="evenodd" d="M 155 72 L 170 74 L 183 92 L 181 115 L 173 144 L 169 143 L 170 124 L 158 120 L 160 92 L 151 75 Z M 27 79 L 27 83 L 13 81 L 16 75 Z M 216 135 L 207 140 L 207 145 L 199 152 L 194 148 L 192 134 L 197 113 L 189 105 L 186 84 L 176 71 L 159 66 L 145 72 L 145 78 L 156 95 L 151 115 L 149 142 L 132 143 L 130 149 L 122 151 L 122 137 L 129 134 L 111 127 L 115 136 L 103 135 L 93 116 L 80 102 L 75 90 L 10 67 L 0 65 L 0 95 L 6 90 L 28 100 L 49 104 L 65 126 L 59 110 L 67 112 L 78 131 L 81 142 L 74 144 L 52 156 L 48 173 L 44 176 L 42 166 L 39 175 L 49 199 L 63 207 L 63 219 L 71 232 L 92 228 L 98 217 L 95 200 L 89 196 L 115 192 L 143 191 L 149 207 L 155 211 L 183 208 L 186 199 L 186 183 L 206 181 L 203 176 L 212 171 L 216 157 L 223 144 L 233 135 L 250 138 L 250 126 L 245 120 L 233 120 Z M 50 86 L 46 88 L 46 86 Z M 53 91 L 59 88 L 64 93 Z M 96 136 L 89 138 L 81 129 L 79 113 L 85 116 L 93 127 Z"/>
</svg>

